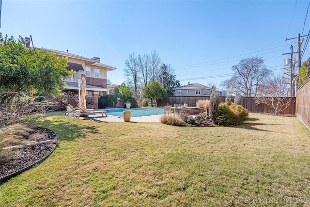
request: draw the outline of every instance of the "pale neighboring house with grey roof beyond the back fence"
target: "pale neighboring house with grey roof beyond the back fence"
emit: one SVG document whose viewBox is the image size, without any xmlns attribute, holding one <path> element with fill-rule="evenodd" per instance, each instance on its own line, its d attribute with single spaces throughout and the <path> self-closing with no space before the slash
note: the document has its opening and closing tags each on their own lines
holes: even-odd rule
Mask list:
<svg viewBox="0 0 310 207">
<path fill-rule="evenodd" d="M 189 83 L 187 85 L 173 88 L 174 96 L 210 96 L 211 90 L 209 86 L 200 83 Z M 227 91 L 216 88 L 219 96 L 227 96 Z"/>
</svg>

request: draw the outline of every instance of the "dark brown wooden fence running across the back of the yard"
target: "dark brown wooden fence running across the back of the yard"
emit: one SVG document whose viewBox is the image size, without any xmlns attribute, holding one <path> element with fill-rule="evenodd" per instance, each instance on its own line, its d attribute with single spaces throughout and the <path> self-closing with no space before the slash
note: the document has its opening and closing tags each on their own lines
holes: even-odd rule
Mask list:
<svg viewBox="0 0 310 207">
<path fill-rule="evenodd" d="M 219 102 L 225 102 L 226 97 L 219 97 Z M 168 96 L 165 100 L 157 100 L 157 107 L 164 107 L 165 105 L 180 104 L 183 105 L 187 103 L 188 106 L 195 107 L 196 102 L 200 99 L 210 99 L 210 96 Z M 233 102 L 234 97 L 232 97 Z M 279 114 L 295 114 L 295 101 L 296 98 L 293 97 L 292 104 L 286 108 L 284 111 L 279 112 Z M 242 97 L 241 104 L 244 108 L 248 109 L 249 112 L 256 113 L 275 113 L 275 111 L 268 107 L 266 104 L 261 103 L 256 105 L 254 97 Z"/>
</svg>

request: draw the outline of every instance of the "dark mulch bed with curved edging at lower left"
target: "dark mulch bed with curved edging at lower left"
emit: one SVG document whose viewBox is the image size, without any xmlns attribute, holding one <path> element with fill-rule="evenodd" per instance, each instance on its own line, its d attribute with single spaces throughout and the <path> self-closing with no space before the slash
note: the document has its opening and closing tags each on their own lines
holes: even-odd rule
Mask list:
<svg viewBox="0 0 310 207">
<path fill-rule="evenodd" d="M 28 136 L 31 141 L 56 140 L 56 134 L 47 128 L 33 127 L 32 129 Z M 6 159 L 0 159 L 0 178 L 16 173 L 45 158 L 55 146 L 56 142 L 9 149 Z"/>
</svg>

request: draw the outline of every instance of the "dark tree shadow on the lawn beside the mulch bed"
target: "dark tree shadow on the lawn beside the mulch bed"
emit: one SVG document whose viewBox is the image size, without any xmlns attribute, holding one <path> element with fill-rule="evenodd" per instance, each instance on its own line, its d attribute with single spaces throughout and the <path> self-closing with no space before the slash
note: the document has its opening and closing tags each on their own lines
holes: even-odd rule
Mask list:
<svg viewBox="0 0 310 207">
<path fill-rule="evenodd" d="M 72 119 L 72 118 L 69 118 Z M 33 126 L 45 127 L 55 132 L 59 141 L 74 141 L 78 138 L 86 137 L 87 133 L 97 134 L 97 128 L 84 126 L 76 123 L 78 120 L 73 119 L 72 122 L 65 116 L 46 116 L 33 120 L 30 124 Z"/>
</svg>

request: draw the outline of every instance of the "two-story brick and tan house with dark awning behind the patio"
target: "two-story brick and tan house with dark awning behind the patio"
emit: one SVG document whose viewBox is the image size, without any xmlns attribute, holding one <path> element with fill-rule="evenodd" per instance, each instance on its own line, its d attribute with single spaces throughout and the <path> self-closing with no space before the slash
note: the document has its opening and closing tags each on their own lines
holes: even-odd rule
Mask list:
<svg viewBox="0 0 310 207">
<path fill-rule="evenodd" d="M 26 43 L 27 44 L 27 43 Z M 100 63 L 100 58 L 86 58 L 72 53 L 43 48 L 46 52 L 54 52 L 59 57 L 68 58 L 68 69 L 75 73 L 68 79 L 63 79 L 66 82 L 63 92 L 78 93 L 79 81 L 85 77 L 86 80 L 86 96 L 93 96 L 93 104 L 89 108 L 98 109 L 98 97 L 113 93 L 113 89 L 119 85 L 107 83 L 107 72 L 115 70 L 107 64 Z"/>
</svg>

